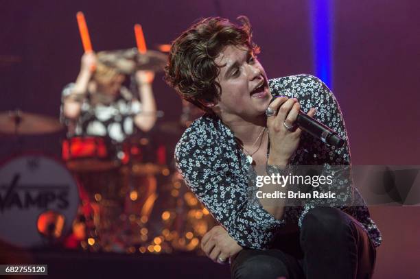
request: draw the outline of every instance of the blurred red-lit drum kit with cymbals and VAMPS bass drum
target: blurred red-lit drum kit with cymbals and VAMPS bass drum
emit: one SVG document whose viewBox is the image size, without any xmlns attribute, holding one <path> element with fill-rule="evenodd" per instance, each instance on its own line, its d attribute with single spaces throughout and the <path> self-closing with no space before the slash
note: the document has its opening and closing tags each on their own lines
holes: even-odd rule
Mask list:
<svg viewBox="0 0 420 279">
<path fill-rule="evenodd" d="M 102 51 L 98 60 L 130 74 L 161 71 L 166 57 L 124 49 Z M 182 121 L 163 123 L 157 130 L 180 136 L 191 110 L 183 106 Z M 21 110 L 0 113 L 0 134 L 14 135 L 16 141 L 63 129 L 52 117 Z M 42 152 L 12 156 L 0 166 L 0 240 L 23 248 L 60 245 L 128 253 L 198 248 L 196 236 L 207 232 L 213 221 L 205 217 L 211 215 L 185 186 L 180 191 L 183 182 L 168 167 L 166 153 L 165 145 L 144 136 L 119 145 L 104 137 L 74 136 L 62 140 L 60 159 Z M 161 184 L 170 193 L 162 197 L 176 202 L 161 201 L 160 211 L 153 213 Z M 197 221 L 183 228 L 180 220 L 187 215 Z"/>
</svg>

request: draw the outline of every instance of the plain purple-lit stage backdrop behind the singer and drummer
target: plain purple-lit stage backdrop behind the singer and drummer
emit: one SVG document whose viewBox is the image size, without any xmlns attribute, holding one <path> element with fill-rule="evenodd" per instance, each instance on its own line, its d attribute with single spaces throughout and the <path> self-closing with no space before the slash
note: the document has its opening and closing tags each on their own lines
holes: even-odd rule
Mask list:
<svg viewBox="0 0 420 279">
<path fill-rule="evenodd" d="M 253 25 L 259 58 L 269 77 L 314 74 L 309 1 L 3 1 L 0 111 L 21 108 L 58 117 L 60 90 L 75 80 L 82 44 L 75 13 L 84 12 L 96 51 L 135 46 L 143 25 L 148 48 L 170 43 L 205 16 Z M 420 165 L 420 1 L 335 1 L 333 91 L 349 130 L 353 164 Z M 176 120 L 180 100 L 157 75 L 154 93 L 165 121 Z M 23 149 L 60 150 L 62 134 L 27 136 Z M 1 158 L 12 146 L 1 138 Z M 375 278 L 418 278 L 420 208 L 371 208 L 384 236 Z"/>
</svg>

